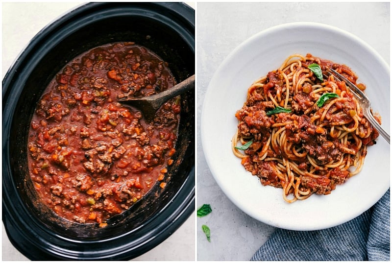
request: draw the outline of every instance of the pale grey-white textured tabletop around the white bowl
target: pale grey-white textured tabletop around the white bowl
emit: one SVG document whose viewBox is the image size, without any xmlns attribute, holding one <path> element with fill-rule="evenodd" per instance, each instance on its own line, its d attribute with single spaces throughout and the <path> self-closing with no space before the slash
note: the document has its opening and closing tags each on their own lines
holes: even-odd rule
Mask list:
<svg viewBox="0 0 392 263">
<path fill-rule="evenodd" d="M 218 187 L 205 162 L 199 124 L 204 95 L 214 72 L 234 48 L 252 35 L 292 22 L 340 27 L 375 48 L 389 64 L 390 3 L 199 2 L 196 13 L 197 207 L 211 204 L 213 210 L 210 215 L 197 218 L 197 259 L 246 261 L 274 229 L 239 210 Z M 211 243 L 201 231 L 202 224 L 211 229 Z"/>
</svg>

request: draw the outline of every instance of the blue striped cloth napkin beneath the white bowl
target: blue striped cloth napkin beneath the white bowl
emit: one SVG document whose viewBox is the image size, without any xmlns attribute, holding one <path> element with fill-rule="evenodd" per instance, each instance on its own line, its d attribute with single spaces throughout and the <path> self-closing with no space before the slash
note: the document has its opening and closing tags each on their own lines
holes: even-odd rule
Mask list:
<svg viewBox="0 0 392 263">
<path fill-rule="evenodd" d="M 390 190 L 368 211 L 339 226 L 277 229 L 251 261 L 390 261 Z"/>
</svg>

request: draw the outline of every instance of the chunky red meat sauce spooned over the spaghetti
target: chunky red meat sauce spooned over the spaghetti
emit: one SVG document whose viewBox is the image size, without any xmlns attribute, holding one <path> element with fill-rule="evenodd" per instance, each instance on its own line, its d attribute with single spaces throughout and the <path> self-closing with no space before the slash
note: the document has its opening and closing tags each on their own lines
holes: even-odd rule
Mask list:
<svg viewBox="0 0 392 263">
<path fill-rule="evenodd" d="M 357 83 L 357 76 L 345 65 L 336 64 L 328 60 L 321 60 L 308 54 L 310 61 L 303 62 L 303 64 L 317 63 L 322 72 L 328 68 L 335 69 L 349 79 L 352 83 L 357 85 L 361 90 L 365 90 L 366 86 L 362 83 Z M 289 71 L 289 70 L 288 70 Z M 289 75 L 289 72 L 286 72 Z M 280 72 L 272 71 L 267 75 L 266 83 L 263 86 L 264 94 L 272 94 L 275 96 L 278 92 L 282 93 L 282 87 L 285 86 L 283 78 L 279 77 Z M 314 83 L 317 81 L 316 75 L 311 73 L 310 80 Z M 326 83 L 329 83 L 328 80 Z M 332 81 L 331 81 L 332 82 Z M 282 188 L 282 180 L 277 174 L 277 162 L 264 161 L 260 154 L 263 146 L 267 144 L 267 140 L 272 133 L 272 125 L 279 123 L 287 123 L 285 127 L 284 141 L 287 144 L 292 144 L 298 148 L 302 148 L 306 153 L 304 156 L 287 155 L 278 144 L 273 144 L 268 149 L 266 156 L 270 158 L 285 158 L 295 163 L 298 169 L 302 171 L 309 171 L 312 165 L 309 163 L 307 157 L 310 156 L 314 159 L 318 166 L 324 166 L 341 160 L 343 155 L 350 151 L 350 155 L 346 154 L 346 158 L 350 159 L 349 164 L 355 163 L 356 153 L 360 150 L 358 143 L 350 139 L 343 143 L 338 138 L 332 138 L 330 127 L 344 123 L 348 128 L 352 128 L 354 121 L 351 117 L 351 111 L 356 110 L 356 103 L 351 94 L 347 94 L 344 102 L 336 102 L 336 112 L 326 112 L 325 119 L 322 125 L 315 125 L 311 121 L 319 107 L 314 108 L 318 100 L 318 96 L 311 93 L 312 86 L 304 85 L 301 87 L 302 91 L 296 93 L 290 99 L 291 113 L 278 113 L 268 116 L 266 112 L 275 108 L 271 101 L 264 101 L 264 96 L 259 93 L 253 93 L 254 87 L 249 88 L 247 101 L 244 107 L 236 112 L 236 118 L 239 120 L 238 133 L 244 138 L 253 138 L 252 144 L 244 150 L 246 157 L 242 158 L 242 165 L 246 170 L 250 171 L 253 175 L 260 177 L 263 185 L 270 185 L 275 188 Z M 345 91 L 346 86 L 343 81 L 334 80 L 339 92 Z M 327 84 L 329 85 L 329 84 Z M 292 88 L 293 90 L 294 88 Z M 293 93 L 293 91 L 291 92 Z M 284 102 L 284 100 L 282 100 Z M 283 106 L 283 105 L 281 105 Z M 311 111 L 310 111 L 311 110 Z M 310 112 L 305 114 L 305 112 Z M 337 113 L 339 112 L 339 114 Z M 377 121 L 381 120 L 375 116 Z M 361 140 L 359 145 L 373 145 L 379 136 L 378 131 L 371 126 L 365 118 L 361 118 L 358 123 L 358 136 L 357 140 Z M 365 136 L 369 133 L 369 136 Z M 283 140 L 282 140 L 283 141 Z M 271 143 L 272 144 L 272 143 Z M 352 152 L 352 153 L 351 153 Z M 361 151 L 361 155 L 365 158 L 367 151 Z M 343 184 L 349 178 L 349 171 L 347 168 L 329 168 L 325 170 L 316 170 L 318 178 L 310 176 L 301 176 L 301 187 L 303 191 L 310 189 L 311 192 L 317 194 L 328 194 L 335 189 L 336 184 Z"/>
</svg>

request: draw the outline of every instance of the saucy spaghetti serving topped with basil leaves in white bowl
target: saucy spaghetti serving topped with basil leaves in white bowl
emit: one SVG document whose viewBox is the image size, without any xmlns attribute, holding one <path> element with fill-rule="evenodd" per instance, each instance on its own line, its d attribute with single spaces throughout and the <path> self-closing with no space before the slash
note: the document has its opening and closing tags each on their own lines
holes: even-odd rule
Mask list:
<svg viewBox="0 0 392 263">
<path fill-rule="evenodd" d="M 248 88 L 235 114 L 234 154 L 289 203 L 329 194 L 357 174 L 379 135 L 345 83 L 322 74 L 328 68 L 365 90 L 347 66 L 294 54 Z"/>
</svg>

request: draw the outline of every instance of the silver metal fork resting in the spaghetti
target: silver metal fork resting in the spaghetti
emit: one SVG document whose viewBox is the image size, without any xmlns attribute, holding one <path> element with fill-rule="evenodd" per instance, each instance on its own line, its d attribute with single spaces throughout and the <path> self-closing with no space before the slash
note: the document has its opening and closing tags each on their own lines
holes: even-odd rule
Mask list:
<svg viewBox="0 0 392 263">
<path fill-rule="evenodd" d="M 361 107 L 364 109 L 364 116 L 366 119 L 370 122 L 371 125 L 384 137 L 384 139 L 390 143 L 390 135 L 384 130 L 384 128 L 378 123 L 376 119 L 374 119 L 373 115 L 370 112 L 370 100 L 368 97 L 363 93 L 356 85 L 354 85 L 351 81 L 346 79 L 342 74 L 339 72 L 336 72 L 335 70 L 329 68 L 327 72 L 331 75 L 333 75 L 337 80 L 341 79 L 343 80 L 348 88 L 352 91 L 352 95 L 355 96 L 361 105 Z"/>
</svg>

